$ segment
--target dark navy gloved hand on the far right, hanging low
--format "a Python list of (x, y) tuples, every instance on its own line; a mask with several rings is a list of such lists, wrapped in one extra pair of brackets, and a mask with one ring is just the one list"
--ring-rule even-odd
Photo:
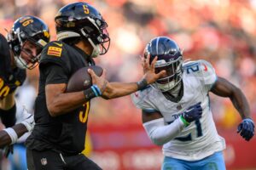
[(249, 141), (254, 135), (254, 122), (252, 119), (243, 119), (237, 127), (237, 133), (240, 133), (243, 139)]

